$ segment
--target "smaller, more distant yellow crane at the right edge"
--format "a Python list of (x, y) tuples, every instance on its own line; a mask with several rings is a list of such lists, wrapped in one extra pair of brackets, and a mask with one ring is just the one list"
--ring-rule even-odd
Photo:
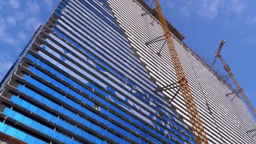
[(225, 43), (225, 40), (222, 40), (222, 42), (220, 43), (219, 45), (219, 50), (216, 54), (216, 57), (213, 61), (213, 64), (212, 64), (212, 68), (214, 67), (214, 64), (216, 63), (217, 61), (217, 58), (219, 57), (220, 61), (222, 62), (223, 64), (223, 67), (224, 69), (226, 70), (226, 72), (228, 72), (229, 76), (231, 77), (232, 81), (235, 83), (236, 85), (236, 88), (237, 88), (237, 91), (242, 95), (243, 99), (245, 100), (246, 104), (248, 105), (249, 109), (251, 110), (251, 112), (253, 113), (253, 116), (256, 118), (256, 111), (251, 103), (251, 101), (248, 99), (248, 97), (246, 96), (245, 92), (243, 91), (242, 87), (240, 86), (240, 84), (237, 82), (234, 74), (232, 73), (230, 67), (228, 64), (226, 64), (226, 62), (224, 61), (222, 55), (220, 55), (220, 51), (222, 50), (222, 46), (224, 45)]

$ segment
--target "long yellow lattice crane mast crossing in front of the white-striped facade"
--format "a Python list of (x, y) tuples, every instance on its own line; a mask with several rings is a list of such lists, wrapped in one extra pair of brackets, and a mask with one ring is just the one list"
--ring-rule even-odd
[(164, 13), (162, 12), (161, 5), (158, 0), (154, 0), (155, 9), (159, 16), (159, 20), (162, 26), (162, 31), (164, 32), (164, 37), (166, 39), (166, 44), (171, 54), (171, 59), (176, 71), (179, 86), (181, 87), (181, 92), (185, 101), (185, 106), (187, 107), (188, 115), (190, 118), (191, 125), (193, 127), (194, 135), (197, 143), (208, 143), (205, 129), (203, 128), (199, 113), (197, 111), (195, 100), (191, 93), (188, 80), (185, 76), (184, 70), (182, 68), (181, 61), (179, 60), (178, 52), (172, 40), (172, 34), (168, 28)]

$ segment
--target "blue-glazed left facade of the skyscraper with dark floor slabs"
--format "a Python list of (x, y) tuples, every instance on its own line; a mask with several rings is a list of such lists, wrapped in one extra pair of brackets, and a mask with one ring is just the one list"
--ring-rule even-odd
[(62, 0), (39, 27), (1, 82), (1, 141), (195, 143), (109, 3)]

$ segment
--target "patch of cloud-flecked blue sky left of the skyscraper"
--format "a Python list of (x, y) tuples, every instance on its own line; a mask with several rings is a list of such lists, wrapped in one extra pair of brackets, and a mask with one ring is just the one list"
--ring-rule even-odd
[(57, 3), (57, 0), (0, 0), (0, 80)]

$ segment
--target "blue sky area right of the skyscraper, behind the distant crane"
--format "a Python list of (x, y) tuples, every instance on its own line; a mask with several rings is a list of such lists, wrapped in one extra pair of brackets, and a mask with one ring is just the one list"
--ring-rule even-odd
[[(256, 1), (160, 0), (160, 3), (166, 19), (186, 37), (184, 43), (205, 61), (212, 63), (220, 41), (226, 40), (221, 54), (256, 107)], [(219, 59), (214, 69), (227, 74)]]

